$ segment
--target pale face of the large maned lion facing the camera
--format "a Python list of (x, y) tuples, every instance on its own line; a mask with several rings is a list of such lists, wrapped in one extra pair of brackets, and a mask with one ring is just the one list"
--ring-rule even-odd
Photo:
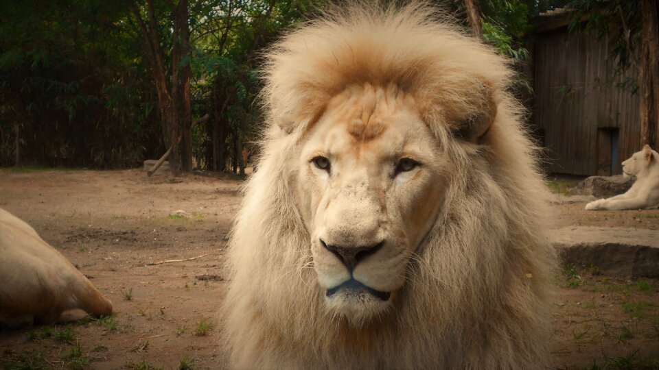
[(382, 314), (437, 218), (450, 169), (410, 97), (365, 86), (334, 97), (301, 139), (298, 206), (327, 308)]

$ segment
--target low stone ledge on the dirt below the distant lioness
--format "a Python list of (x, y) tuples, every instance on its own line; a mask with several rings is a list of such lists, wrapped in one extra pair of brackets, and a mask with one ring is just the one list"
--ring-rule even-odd
[(659, 277), (659, 231), (570, 226), (551, 232), (562, 261), (605, 275)]

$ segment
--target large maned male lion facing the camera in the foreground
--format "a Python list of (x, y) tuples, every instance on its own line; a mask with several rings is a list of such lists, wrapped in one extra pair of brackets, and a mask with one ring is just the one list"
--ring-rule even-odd
[(231, 367), (549, 366), (548, 194), (513, 73), (434, 18), (353, 5), (268, 52)]

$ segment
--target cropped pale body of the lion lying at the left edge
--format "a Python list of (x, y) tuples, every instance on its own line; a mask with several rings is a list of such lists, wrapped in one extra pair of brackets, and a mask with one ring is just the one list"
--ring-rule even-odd
[[(0, 209), (0, 327), (111, 314), (112, 304), (34, 229)], [(79, 317), (78, 317), (79, 318)]]

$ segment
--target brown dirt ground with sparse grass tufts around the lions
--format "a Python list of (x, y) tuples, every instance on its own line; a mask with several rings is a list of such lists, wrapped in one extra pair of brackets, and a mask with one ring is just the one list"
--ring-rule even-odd
[[(222, 264), (241, 184), (139, 170), (0, 169), (0, 207), (30, 223), (115, 307), (104, 319), (0, 332), (0, 367), (222, 368)], [(656, 210), (555, 208), (557, 227), (659, 230)], [(564, 267), (555, 293), (555, 368), (659, 369), (659, 280)]]

